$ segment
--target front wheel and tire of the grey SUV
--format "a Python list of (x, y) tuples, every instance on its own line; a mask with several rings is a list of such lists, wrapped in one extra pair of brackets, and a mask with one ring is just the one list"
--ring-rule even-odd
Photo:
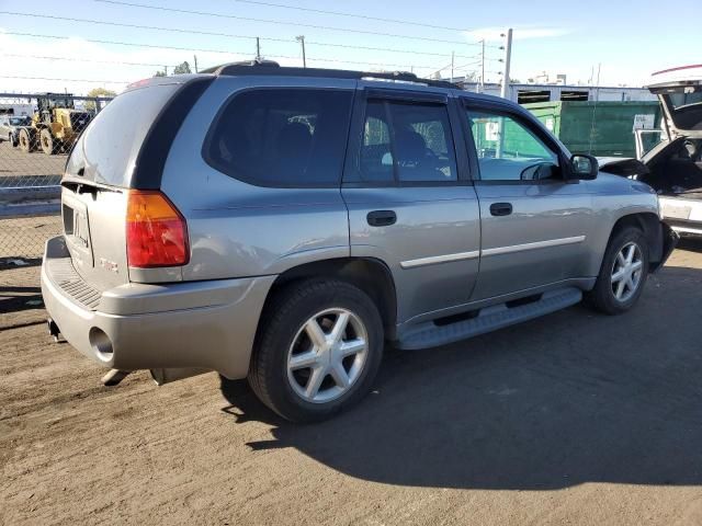
[[(626, 261), (630, 253), (631, 266)], [(625, 227), (616, 232), (604, 252), (595, 288), (586, 296), (590, 306), (605, 315), (621, 315), (634, 307), (648, 277), (648, 243), (638, 228)]]

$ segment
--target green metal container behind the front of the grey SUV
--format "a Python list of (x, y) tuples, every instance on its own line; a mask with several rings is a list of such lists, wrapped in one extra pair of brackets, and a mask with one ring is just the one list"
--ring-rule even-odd
[[(573, 153), (636, 157), (634, 129), (659, 129), (658, 102), (533, 102), (523, 104)], [(645, 135), (645, 139), (653, 139)]]

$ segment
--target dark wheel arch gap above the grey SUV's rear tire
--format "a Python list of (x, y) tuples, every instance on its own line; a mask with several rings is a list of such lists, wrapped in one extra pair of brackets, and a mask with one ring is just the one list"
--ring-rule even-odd
[(374, 258), (336, 258), (293, 266), (278, 276), (271, 286), (263, 309), (282, 288), (307, 279), (335, 278), (347, 282), (369, 295), (383, 319), (385, 336), (395, 338), (397, 295), (387, 265)]

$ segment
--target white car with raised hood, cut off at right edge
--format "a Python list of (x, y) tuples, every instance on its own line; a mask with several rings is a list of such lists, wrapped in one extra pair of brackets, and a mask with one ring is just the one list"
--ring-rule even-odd
[[(683, 66), (653, 75), (648, 89), (664, 110), (663, 138), (643, 152), (641, 162), (610, 160), (603, 170), (649, 184), (659, 195), (663, 217), (676, 231), (702, 235), (702, 66)], [(623, 169), (622, 169), (623, 168)]]

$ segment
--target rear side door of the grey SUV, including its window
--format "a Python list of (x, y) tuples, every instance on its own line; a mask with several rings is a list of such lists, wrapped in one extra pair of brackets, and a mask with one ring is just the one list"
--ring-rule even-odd
[(351, 255), (387, 264), (398, 323), (467, 302), (480, 225), (454, 101), (371, 85), (359, 95), (342, 185)]

